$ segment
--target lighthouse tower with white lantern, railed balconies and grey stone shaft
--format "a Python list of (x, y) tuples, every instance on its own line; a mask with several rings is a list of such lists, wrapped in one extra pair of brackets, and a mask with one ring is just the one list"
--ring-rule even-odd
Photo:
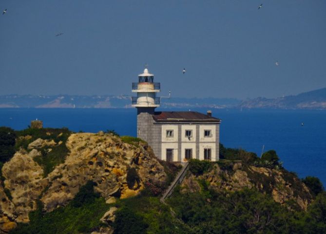
[(137, 137), (147, 141), (152, 140), (152, 125), (155, 108), (160, 106), (160, 98), (156, 93), (160, 91), (160, 83), (154, 83), (154, 75), (145, 68), (138, 75), (138, 82), (133, 83), (133, 92), (137, 93), (132, 98), (132, 106), (137, 108)]

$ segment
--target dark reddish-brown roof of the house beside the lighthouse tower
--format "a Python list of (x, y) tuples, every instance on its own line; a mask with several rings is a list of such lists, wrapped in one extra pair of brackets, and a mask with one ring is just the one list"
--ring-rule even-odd
[(220, 119), (196, 111), (161, 111), (153, 114), (156, 122), (221, 122)]

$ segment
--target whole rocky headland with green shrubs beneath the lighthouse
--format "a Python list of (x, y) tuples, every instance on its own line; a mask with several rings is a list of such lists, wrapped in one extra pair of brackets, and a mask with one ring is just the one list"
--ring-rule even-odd
[[(220, 145), (224, 160), (192, 160), (185, 180), (163, 204), (159, 198), (179, 167), (157, 160), (139, 139), (68, 129), (13, 133), (22, 150), (7, 159), (0, 174), (5, 199), (0, 208), (3, 214), (11, 211), (4, 209), (8, 204), (31, 212), (24, 219), (29, 223), (16, 219), (10, 234), (326, 233), (320, 180), (300, 180), (282, 167), (275, 151), (259, 158)], [(31, 173), (17, 176), (19, 162)], [(33, 196), (18, 193), (27, 187), (33, 187)], [(15, 214), (0, 217), (0, 228), (5, 217), (14, 223)]]

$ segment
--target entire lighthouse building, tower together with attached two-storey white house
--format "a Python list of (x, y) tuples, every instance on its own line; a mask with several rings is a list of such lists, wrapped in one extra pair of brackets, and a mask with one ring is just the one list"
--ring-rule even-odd
[(153, 82), (154, 75), (147, 69), (133, 83), (132, 105), (137, 108), (137, 137), (148, 142), (157, 158), (169, 162), (188, 159), (217, 161), (219, 159), (220, 119), (211, 111), (160, 111), (160, 83)]

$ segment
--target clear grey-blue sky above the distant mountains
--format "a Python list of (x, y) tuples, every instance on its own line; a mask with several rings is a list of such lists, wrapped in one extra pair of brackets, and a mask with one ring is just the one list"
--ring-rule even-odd
[(325, 0), (1, 0), (6, 8), (0, 95), (130, 95), (145, 63), (161, 95), (326, 87)]

